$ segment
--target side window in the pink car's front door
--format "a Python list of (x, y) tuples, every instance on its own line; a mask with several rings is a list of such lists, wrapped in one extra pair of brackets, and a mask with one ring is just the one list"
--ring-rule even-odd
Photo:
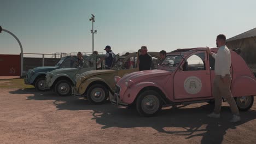
[(185, 70), (187, 71), (205, 70), (205, 52), (189, 56), (189, 58), (187, 58), (187, 63), (185, 64), (187, 64), (185, 67)]

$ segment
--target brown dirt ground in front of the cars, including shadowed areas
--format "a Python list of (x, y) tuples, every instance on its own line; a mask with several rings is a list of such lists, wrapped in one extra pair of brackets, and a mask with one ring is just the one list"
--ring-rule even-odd
[(232, 124), (226, 103), (219, 119), (206, 116), (213, 109), (207, 103), (167, 107), (146, 118), (34, 88), (0, 91), (0, 143), (256, 143), (255, 102)]

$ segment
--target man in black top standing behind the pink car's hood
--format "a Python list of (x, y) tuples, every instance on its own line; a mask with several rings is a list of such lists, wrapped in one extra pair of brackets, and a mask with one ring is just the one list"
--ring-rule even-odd
[(141, 47), (141, 55), (138, 58), (139, 71), (150, 70), (152, 64), (152, 57), (148, 54), (147, 46)]

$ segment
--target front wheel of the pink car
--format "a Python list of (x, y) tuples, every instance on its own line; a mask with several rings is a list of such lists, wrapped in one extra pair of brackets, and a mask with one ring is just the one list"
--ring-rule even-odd
[(144, 91), (136, 100), (137, 112), (146, 117), (155, 116), (162, 109), (162, 100), (155, 91)]

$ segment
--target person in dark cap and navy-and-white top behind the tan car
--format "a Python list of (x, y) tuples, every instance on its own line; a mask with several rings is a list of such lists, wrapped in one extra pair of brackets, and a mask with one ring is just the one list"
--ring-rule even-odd
[(105, 68), (110, 69), (115, 57), (115, 53), (111, 50), (109, 45), (107, 45), (104, 50), (106, 51), (106, 55), (105, 57), (102, 57), (101, 60), (97, 62), (97, 64), (101, 63), (105, 59)]

